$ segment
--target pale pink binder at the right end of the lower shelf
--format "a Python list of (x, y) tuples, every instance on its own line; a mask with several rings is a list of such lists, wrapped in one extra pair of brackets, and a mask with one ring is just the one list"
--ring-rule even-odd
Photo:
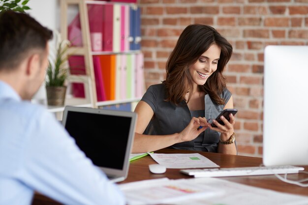
[(143, 63), (143, 54), (136, 54), (136, 73), (135, 73), (135, 95), (136, 98), (141, 98), (144, 94), (144, 63)]

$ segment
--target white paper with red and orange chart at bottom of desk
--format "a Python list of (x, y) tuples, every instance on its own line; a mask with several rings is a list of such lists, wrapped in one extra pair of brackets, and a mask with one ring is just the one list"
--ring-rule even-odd
[(224, 194), (219, 189), (185, 179), (152, 179), (120, 184), (119, 186), (124, 192), (128, 205), (166, 204)]

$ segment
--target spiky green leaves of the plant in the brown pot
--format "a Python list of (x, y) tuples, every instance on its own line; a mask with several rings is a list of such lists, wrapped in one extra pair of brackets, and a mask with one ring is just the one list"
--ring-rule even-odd
[(64, 56), (69, 45), (69, 42), (61, 41), (57, 46), (54, 61), (52, 62), (52, 60), (49, 59), (46, 86), (64, 86), (69, 70), (67, 67), (67, 58)]

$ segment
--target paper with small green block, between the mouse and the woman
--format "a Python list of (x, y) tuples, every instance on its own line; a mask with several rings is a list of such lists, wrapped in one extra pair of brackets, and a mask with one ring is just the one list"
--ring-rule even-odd
[(155, 154), (150, 153), (152, 158), (166, 168), (187, 169), (187, 168), (208, 168), (219, 167), (210, 159), (201, 154)]

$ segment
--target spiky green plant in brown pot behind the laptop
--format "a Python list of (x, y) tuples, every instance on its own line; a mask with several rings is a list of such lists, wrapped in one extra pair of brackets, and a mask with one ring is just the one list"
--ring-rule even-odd
[(55, 56), (49, 58), (46, 79), (47, 104), (63, 106), (65, 101), (65, 79), (68, 74), (65, 52), (70, 46), (68, 41), (57, 43)]

